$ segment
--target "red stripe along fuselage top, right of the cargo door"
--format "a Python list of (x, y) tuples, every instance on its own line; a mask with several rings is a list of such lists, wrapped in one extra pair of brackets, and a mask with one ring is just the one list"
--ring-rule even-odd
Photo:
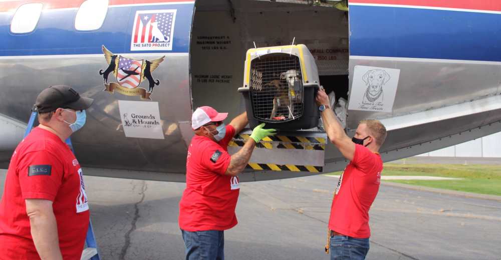
[(500, 0), (350, 0), (350, 3), (398, 4), (437, 8), (501, 11)]

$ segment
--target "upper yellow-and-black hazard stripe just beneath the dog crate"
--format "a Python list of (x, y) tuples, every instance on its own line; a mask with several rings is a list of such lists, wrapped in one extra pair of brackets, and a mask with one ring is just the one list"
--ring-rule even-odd
[[(237, 134), (228, 145), (243, 146), (248, 138), (249, 134)], [(279, 149), (325, 150), (325, 140), (324, 137), (272, 135), (263, 138), (256, 146), (259, 148), (272, 149), (273, 144), (271, 142), (280, 142), (277, 145)]]

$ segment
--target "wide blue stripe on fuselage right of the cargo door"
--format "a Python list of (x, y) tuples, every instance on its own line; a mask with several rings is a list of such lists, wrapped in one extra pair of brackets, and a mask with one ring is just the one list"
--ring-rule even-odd
[(501, 61), (501, 14), (350, 5), (350, 55)]

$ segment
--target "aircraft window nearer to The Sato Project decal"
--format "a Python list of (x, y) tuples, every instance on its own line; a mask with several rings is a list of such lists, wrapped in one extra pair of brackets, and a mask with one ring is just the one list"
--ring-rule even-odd
[(108, 0), (86, 0), (83, 2), (75, 18), (75, 29), (97, 30), (101, 28), (108, 11), (108, 4)]

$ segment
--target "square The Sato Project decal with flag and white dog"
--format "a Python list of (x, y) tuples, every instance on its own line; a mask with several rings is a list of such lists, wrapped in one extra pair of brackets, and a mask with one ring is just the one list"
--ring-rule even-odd
[(130, 50), (172, 50), (176, 10), (136, 11)]

